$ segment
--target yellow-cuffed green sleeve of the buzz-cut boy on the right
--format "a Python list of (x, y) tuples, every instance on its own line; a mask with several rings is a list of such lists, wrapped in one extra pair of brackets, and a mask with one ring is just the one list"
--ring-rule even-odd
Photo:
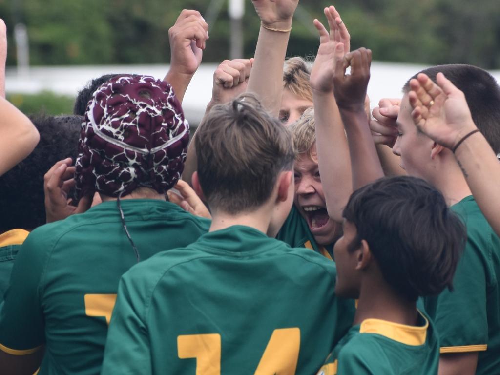
[(453, 291), (445, 289), (425, 298), (425, 309), (433, 318), (439, 335), (440, 352), (486, 350), (486, 272), (478, 246), (470, 238), (453, 277)]

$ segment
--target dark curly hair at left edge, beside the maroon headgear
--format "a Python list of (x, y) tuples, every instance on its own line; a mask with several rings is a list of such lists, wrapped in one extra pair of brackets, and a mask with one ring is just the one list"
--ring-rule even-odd
[(76, 159), (82, 116), (31, 117), (40, 141), (33, 152), (0, 177), (0, 233), (45, 223), (43, 175), (56, 161)]

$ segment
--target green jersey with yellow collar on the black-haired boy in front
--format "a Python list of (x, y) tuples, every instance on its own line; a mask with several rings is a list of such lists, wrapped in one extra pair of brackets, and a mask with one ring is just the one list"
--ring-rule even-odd
[(433, 375), (439, 342), (423, 314), (416, 326), (380, 319), (354, 325), (338, 342), (317, 375)]

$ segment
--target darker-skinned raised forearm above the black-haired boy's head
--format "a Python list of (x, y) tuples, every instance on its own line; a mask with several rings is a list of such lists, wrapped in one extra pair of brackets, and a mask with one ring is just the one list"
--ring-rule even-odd
[(340, 116), (346, 124), (352, 169), (352, 189), (355, 190), (383, 177), (384, 174), (364, 109), (362, 107), (359, 110), (340, 109)]

